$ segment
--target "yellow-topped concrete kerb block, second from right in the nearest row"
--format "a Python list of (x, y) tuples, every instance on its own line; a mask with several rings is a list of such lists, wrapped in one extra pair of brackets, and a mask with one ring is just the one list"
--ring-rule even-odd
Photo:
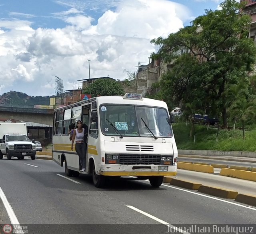
[(234, 190), (212, 187), (212, 186), (205, 186), (205, 185), (201, 185), (198, 189), (198, 192), (217, 196), (220, 198), (232, 198), (232, 199), (236, 198), (236, 196), (238, 195), (238, 192)]

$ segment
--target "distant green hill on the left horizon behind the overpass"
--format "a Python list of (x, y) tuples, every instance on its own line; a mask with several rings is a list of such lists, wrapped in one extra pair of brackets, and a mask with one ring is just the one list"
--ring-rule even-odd
[(28, 96), (27, 94), (10, 91), (0, 95), (0, 104), (6, 106), (34, 106), (50, 105), (50, 97), (53, 96)]

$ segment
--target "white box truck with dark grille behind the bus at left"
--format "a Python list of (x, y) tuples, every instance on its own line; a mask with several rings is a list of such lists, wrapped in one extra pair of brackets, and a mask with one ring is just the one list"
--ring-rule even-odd
[(27, 136), (25, 123), (0, 123), (0, 159), (6, 155), (8, 160), (12, 157), (23, 159), (30, 156), (36, 158), (36, 145)]

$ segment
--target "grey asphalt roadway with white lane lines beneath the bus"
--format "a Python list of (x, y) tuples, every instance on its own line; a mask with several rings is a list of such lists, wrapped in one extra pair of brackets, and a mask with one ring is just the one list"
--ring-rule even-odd
[[(99, 189), (89, 176), (70, 179), (50, 160), (0, 161), (0, 188), (20, 224), (133, 224), (129, 233), (154, 224), (147, 233), (164, 233), (167, 224), (256, 223), (256, 208), (167, 184), (154, 189), (148, 181), (121, 179)], [(10, 223), (1, 198), (0, 221)]]

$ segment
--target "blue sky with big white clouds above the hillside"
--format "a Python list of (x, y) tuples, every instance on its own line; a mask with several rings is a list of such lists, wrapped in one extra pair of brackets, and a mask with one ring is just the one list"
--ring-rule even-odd
[(0, 0), (0, 95), (54, 95), (78, 80), (123, 80), (157, 52), (150, 40), (187, 26), (221, 0)]

